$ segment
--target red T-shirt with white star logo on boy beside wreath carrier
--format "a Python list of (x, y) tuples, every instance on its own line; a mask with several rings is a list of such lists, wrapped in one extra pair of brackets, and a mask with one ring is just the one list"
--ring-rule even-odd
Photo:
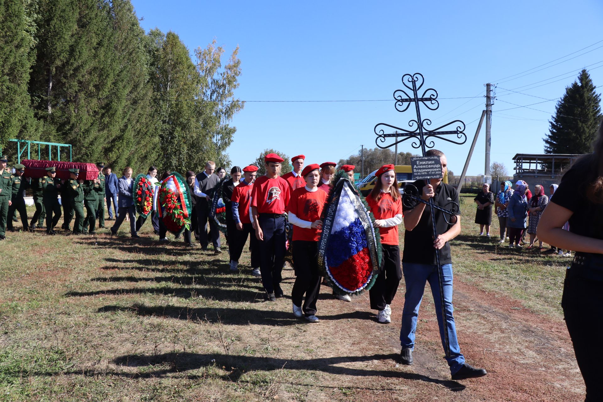
[(253, 183), (251, 206), (257, 213), (284, 213), (291, 198), (291, 186), (282, 178), (260, 176)]

